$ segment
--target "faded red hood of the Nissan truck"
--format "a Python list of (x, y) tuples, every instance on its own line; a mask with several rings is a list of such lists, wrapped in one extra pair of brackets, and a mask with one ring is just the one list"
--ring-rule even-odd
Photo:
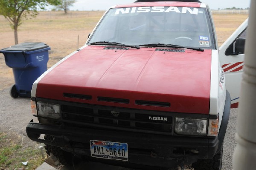
[[(135, 109), (209, 114), (211, 50), (161, 52), (155, 48), (87, 46), (39, 81), (36, 97)], [(63, 93), (91, 95), (91, 100)], [(98, 101), (128, 99), (128, 104)], [(137, 101), (169, 103), (145, 106)], [(154, 105), (154, 104), (153, 104)]]

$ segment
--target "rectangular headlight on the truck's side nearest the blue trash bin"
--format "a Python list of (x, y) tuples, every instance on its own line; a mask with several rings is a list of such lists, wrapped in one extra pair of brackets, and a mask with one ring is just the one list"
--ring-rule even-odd
[(37, 111), (39, 116), (47, 118), (60, 118), (60, 105), (37, 102)]

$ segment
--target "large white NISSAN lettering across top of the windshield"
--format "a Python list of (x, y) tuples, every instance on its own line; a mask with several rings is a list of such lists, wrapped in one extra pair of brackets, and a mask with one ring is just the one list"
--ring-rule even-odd
[[(129, 13), (143, 13), (143, 12), (176, 12), (176, 13), (182, 13), (182, 14), (195, 14), (197, 15), (198, 8), (188, 8), (188, 7), (182, 7), (178, 8), (176, 6), (170, 6), (169, 8), (165, 8), (164, 6), (145, 6), (145, 7), (133, 7), (133, 8), (119, 8), (116, 9), (115, 15), (118, 14), (129, 14)], [(201, 12), (200, 12), (201, 13)]]

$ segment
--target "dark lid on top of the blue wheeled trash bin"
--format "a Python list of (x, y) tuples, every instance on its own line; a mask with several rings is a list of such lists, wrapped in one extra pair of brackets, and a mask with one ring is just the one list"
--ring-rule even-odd
[(2, 49), (5, 51), (25, 51), (25, 52), (31, 52), (31, 51), (35, 51), (38, 49), (44, 49), (47, 48), (49, 46), (47, 46), (47, 44), (45, 43), (19, 43), (16, 44), (14, 46), (10, 46), (8, 48)]

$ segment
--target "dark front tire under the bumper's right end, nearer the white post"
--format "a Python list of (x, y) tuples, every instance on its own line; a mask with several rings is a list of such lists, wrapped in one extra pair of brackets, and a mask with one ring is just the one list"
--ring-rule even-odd
[(221, 170), (222, 167), (222, 156), (223, 156), (223, 144), (221, 150), (209, 160), (199, 159), (197, 162), (192, 164), (195, 170)]

